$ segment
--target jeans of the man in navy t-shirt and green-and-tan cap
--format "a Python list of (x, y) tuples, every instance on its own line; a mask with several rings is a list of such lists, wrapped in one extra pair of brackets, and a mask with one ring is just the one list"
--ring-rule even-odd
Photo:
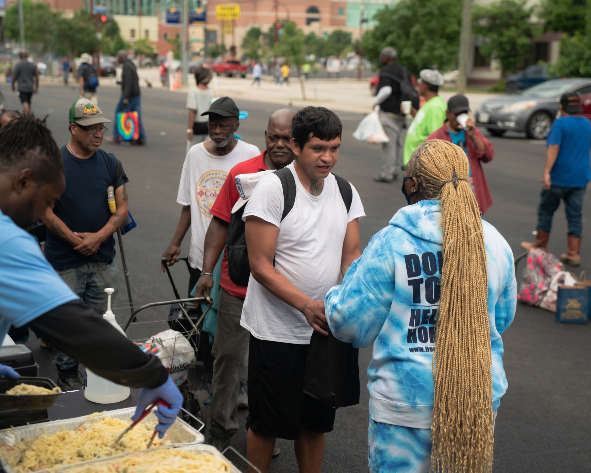
[[(58, 270), (57, 273), (80, 299), (95, 309), (101, 316), (107, 310), (105, 289), (107, 287), (115, 289), (111, 300), (117, 295), (119, 271), (115, 261), (110, 264), (100, 262), (85, 263), (77, 268)], [(75, 359), (56, 349), (54, 349), (54, 352), (56, 353), (54, 364), (57, 365), (58, 370), (70, 370), (78, 366)]]

